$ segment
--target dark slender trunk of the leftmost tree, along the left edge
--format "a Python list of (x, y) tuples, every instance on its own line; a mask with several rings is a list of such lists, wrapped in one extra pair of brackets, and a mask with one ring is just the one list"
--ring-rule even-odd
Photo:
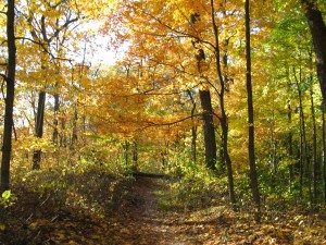
[(12, 150), (12, 128), (13, 128), (13, 107), (15, 95), (15, 73), (16, 73), (16, 46), (15, 46), (15, 1), (8, 0), (7, 10), (7, 45), (8, 45), (8, 66), (7, 66), (7, 95), (4, 109), (4, 127), (2, 142), (1, 160), (1, 193), (10, 188), (10, 159)]

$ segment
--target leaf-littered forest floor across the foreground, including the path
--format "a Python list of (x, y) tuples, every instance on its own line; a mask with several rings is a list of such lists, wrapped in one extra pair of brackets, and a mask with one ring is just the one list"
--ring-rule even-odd
[[(46, 206), (46, 199), (38, 205), (45, 209), (42, 215), (21, 221), (11, 218), (5, 225), (0, 220), (0, 244), (326, 244), (324, 215), (271, 212), (255, 223), (250, 213), (235, 212), (225, 205), (197, 210), (185, 206), (181, 210), (168, 203), (172, 189), (167, 183), (165, 179), (136, 177), (126, 195), (121, 193), (121, 207), (102, 217), (68, 209), (47, 216), (52, 208)], [(20, 208), (26, 212), (26, 207)], [(11, 217), (21, 211), (16, 207)]]

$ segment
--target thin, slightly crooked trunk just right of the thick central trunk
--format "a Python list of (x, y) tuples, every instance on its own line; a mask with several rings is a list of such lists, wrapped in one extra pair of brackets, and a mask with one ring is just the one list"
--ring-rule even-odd
[(222, 68), (221, 68), (221, 52), (220, 52), (220, 39), (218, 39), (218, 27), (215, 21), (215, 8), (214, 8), (214, 0), (211, 0), (211, 19), (213, 24), (213, 32), (214, 32), (214, 39), (215, 39), (215, 65), (217, 71), (217, 76), (220, 81), (221, 91), (218, 93), (220, 98), (220, 107), (221, 107), (221, 127), (222, 127), (222, 144), (223, 144), (223, 156), (225, 158), (225, 164), (227, 168), (227, 176), (228, 176), (228, 193), (229, 199), (233, 206), (236, 205), (236, 195), (235, 195), (235, 186), (234, 186), (234, 172), (233, 172), (233, 164), (228, 154), (228, 122), (227, 115), (225, 112), (225, 105), (224, 105), (224, 96), (225, 96), (225, 83), (224, 77), (222, 75)]

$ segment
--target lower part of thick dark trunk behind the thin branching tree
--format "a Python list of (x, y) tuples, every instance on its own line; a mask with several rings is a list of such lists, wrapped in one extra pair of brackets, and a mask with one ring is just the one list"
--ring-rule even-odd
[(211, 101), (210, 90), (199, 91), (200, 103), (203, 109), (202, 120), (203, 120), (203, 132), (204, 132), (204, 145), (205, 145), (205, 163), (211, 170), (215, 170), (216, 163), (216, 139), (215, 139), (215, 128), (213, 122), (213, 108)]

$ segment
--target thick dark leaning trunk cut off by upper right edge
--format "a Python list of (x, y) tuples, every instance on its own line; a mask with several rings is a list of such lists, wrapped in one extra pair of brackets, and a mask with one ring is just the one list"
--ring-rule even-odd
[(326, 105), (326, 25), (315, 0), (300, 0), (313, 38), (316, 54), (317, 76), (323, 95), (324, 110)]

